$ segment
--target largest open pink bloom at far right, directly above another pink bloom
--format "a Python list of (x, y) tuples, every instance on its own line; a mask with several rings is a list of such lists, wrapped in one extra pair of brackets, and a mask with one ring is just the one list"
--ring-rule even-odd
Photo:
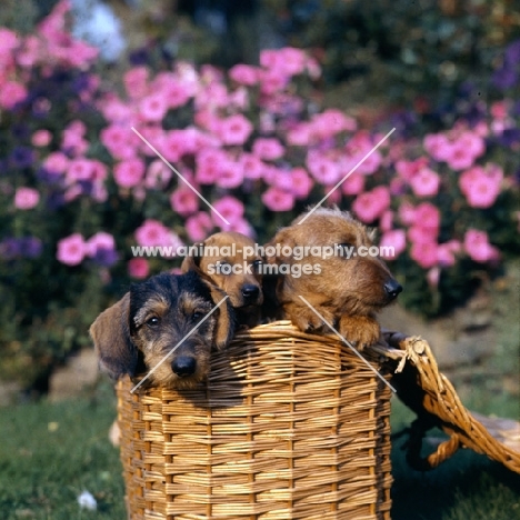
[(460, 176), (459, 186), (472, 208), (490, 208), (500, 193), (502, 179), (500, 167), (489, 164), (484, 170), (477, 166)]

